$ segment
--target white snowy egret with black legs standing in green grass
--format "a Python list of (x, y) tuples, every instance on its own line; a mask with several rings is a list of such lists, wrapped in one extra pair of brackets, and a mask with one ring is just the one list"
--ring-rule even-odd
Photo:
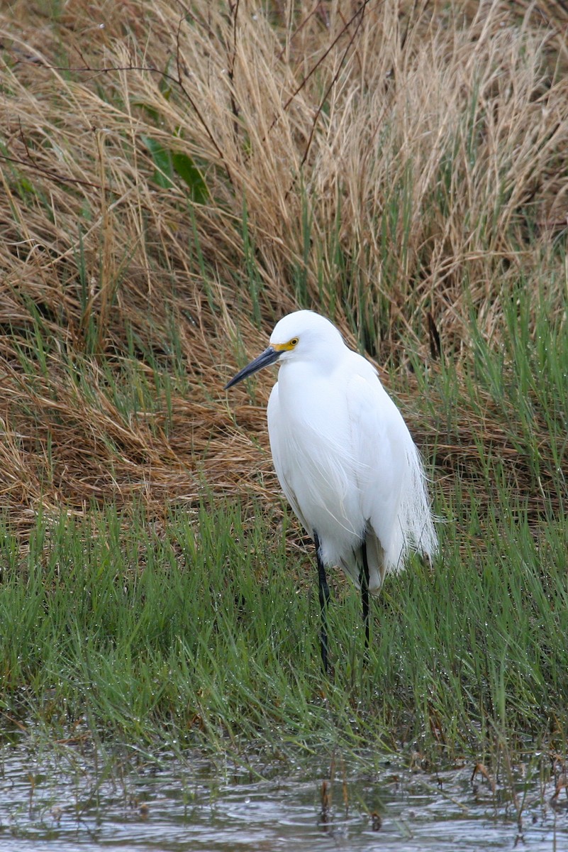
[(436, 534), (417, 447), (372, 364), (325, 317), (295, 311), (225, 389), (276, 361), (270, 450), (282, 491), (314, 539), (327, 671), (326, 566), (343, 567), (361, 589), (368, 647), (369, 593), (412, 550), (433, 556)]

